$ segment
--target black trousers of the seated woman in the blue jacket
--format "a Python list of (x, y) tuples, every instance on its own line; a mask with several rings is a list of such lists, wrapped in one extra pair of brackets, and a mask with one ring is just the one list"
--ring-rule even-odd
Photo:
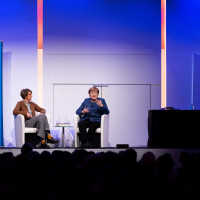
[[(90, 121), (89, 119), (78, 122), (79, 127), (79, 140), (81, 143), (92, 142), (95, 131), (97, 128), (100, 128), (100, 122)], [(87, 131), (87, 128), (88, 131)]]

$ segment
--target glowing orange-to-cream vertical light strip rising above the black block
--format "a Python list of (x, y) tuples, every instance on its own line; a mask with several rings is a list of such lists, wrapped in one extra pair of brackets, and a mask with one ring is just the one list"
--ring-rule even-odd
[(167, 106), (166, 0), (161, 0), (161, 108)]

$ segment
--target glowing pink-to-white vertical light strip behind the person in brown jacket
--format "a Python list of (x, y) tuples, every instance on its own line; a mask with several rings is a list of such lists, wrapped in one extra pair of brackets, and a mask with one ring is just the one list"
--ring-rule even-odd
[(43, 0), (37, 0), (38, 105), (43, 107)]

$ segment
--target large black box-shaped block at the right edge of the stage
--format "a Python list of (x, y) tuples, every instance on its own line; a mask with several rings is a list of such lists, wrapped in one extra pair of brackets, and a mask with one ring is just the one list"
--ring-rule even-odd
[(200, 148), (200, 110), (149, 110), (149, 148)]

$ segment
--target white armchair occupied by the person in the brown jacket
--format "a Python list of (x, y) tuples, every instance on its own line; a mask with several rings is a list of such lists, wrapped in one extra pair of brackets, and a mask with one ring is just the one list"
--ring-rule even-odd
[[(47, 120), (50, 123), (50, 115), (47, 115)], [(37, 128), (27, 128), (25, 127), (24, 116), (21, 114), (14, 115), (14, 124), (15, 124), (15, 139), (16, 147), (22, 147), (25, 143), (25, 134), (26, 133), (37, 133)]]

